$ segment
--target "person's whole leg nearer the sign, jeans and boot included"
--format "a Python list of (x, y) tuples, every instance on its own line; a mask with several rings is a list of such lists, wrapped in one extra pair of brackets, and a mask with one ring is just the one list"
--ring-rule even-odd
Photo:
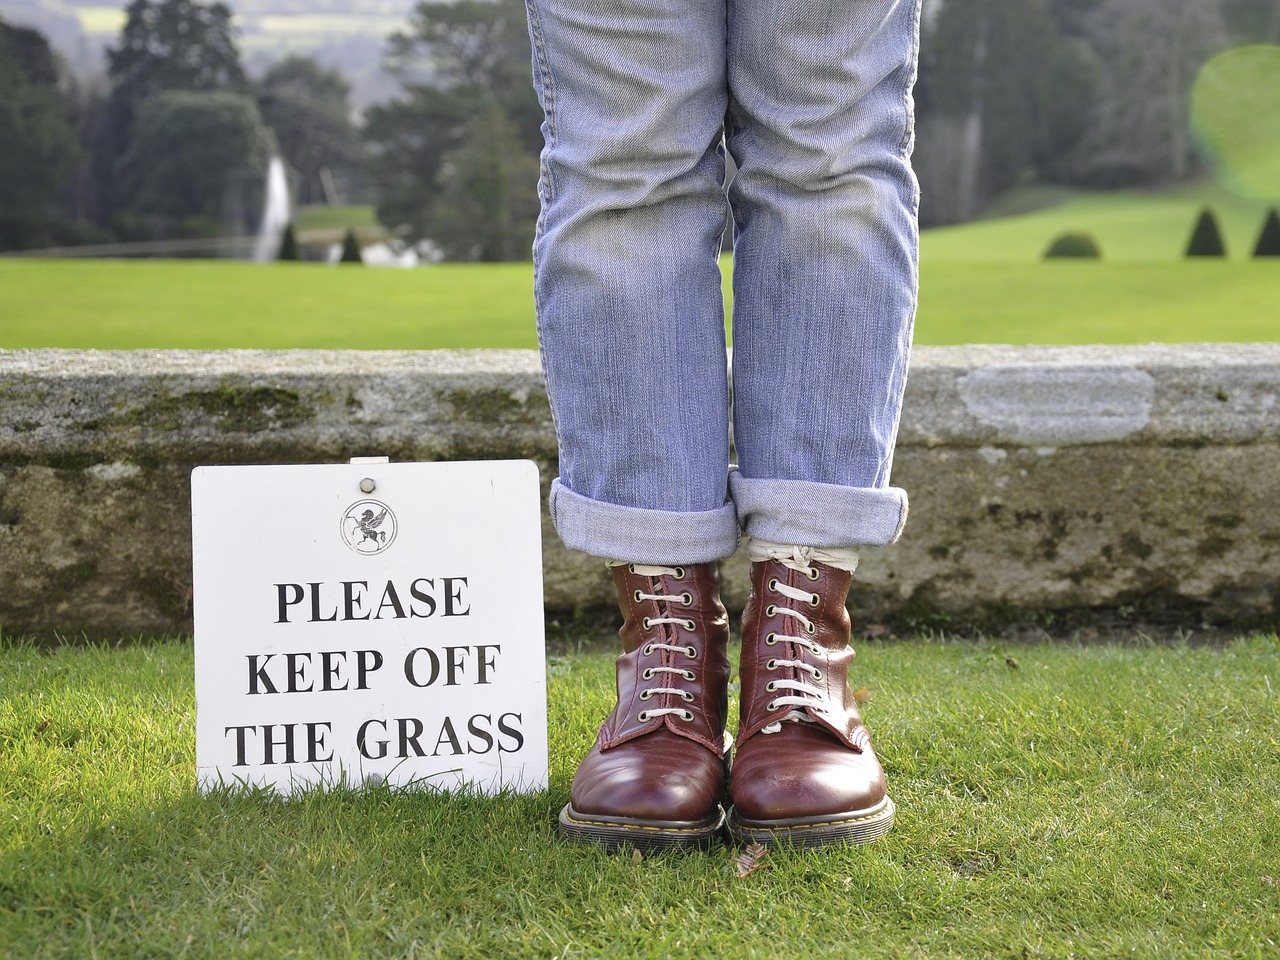
[(701, 846), (724, 820), (737, 545), (719, 278), (723, 0), (529, 0), (547, 122), (534, 244), (564, 544), (613, 566), (618, 703), (561, 831)]

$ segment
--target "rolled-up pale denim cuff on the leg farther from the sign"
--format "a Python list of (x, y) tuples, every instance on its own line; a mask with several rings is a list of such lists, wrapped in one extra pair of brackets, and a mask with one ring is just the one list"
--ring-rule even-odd
[(883, 547), (906, 524), (906, 490), (728, 476), (748, 536), (800, 547)]

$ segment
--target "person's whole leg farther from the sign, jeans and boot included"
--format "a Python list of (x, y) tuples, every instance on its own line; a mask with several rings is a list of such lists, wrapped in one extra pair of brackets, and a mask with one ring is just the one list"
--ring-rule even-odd
[(915, 314), (918, 27), (919, 0), (730, 0), (741, 841), (864, 842), (893, 823), (845, 600), (852, 548), (906, 518), (888, 475)]

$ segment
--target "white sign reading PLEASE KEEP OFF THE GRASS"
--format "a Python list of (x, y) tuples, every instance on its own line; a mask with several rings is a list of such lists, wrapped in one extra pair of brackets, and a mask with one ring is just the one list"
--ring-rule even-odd
[(538, 467), (196, 467), (196, 772), (547, 786)]

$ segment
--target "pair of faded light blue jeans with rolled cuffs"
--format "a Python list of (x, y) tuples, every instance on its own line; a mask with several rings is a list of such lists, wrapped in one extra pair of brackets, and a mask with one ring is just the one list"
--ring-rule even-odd
[(561, 539), (640, 563), (719, 559), (740, 530), (896, 539), (919, 0), (526, 3), (547, 115), (534, 285)]

